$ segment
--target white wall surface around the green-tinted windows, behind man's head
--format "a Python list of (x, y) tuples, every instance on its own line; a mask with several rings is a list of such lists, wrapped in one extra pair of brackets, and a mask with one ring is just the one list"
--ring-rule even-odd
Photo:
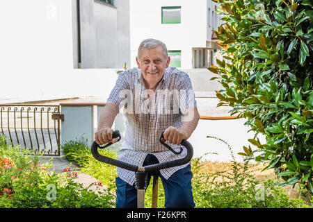
[[(162, 6), (181, 6), (181, 24), (161, 24)], [(192, 69), (192, 48), (207, 42), (207, 0), (131, 0), (131, 67), (137, 67), (138, 46), (146, 38), (163, 41), (168, 50), (182, 51), (182, 69)]]

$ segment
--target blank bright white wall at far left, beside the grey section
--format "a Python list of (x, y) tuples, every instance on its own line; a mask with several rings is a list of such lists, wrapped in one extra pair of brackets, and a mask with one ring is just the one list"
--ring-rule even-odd
[(114, 69), (73, 68), (72, 1), (0, 1), (0, 27), (0, 99), (109, 96)]

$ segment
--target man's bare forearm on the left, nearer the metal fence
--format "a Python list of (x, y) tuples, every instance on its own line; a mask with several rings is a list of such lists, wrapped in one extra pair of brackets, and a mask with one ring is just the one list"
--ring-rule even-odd
[(114, 103), (106, 103), (99, 117), (98, 130), (106, 127), (112, 128), (114, 119), (118, 114), (118, 107)]

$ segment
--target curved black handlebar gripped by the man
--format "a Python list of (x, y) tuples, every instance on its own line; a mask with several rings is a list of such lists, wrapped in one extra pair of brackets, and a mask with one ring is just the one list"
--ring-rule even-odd
[[(163, 138), (163, 133), (164, 131), (162, 132), (161, 136), (159, 137), (159, 142), (161, 144), (163, 144), (163, 146), (166, 146), (166, 148), (168, 148), (170, 151), (172, 151), (172, 153), (175, 153), (175, 154), (180, 154), (182, 153), (182, 148), (180, 148), (180, 151), (177, 152), (177, 151), (174, 151), (170, 146), (168, 146), (167, 144), (165, 144), (163, 141), (162, 141), (162, 138)], [(120, 137), (120, 131), (118, 130), (114, 130), (113, 131), (113, 136), (112, 138), (116, 138), (116, 137)], [(118, 139), (119, 141), (120, 139)], [(135, 166), (133, 164), (128, 164), (127, 162), (122, 162), (120, 160), (114, 160), (110, 157), (106, 157), (104, 155), (100, 155), (99, 152), (98, 152), (98, 148), (106, 148), (108, 146), (110, 146), (112, 143), (109, 143), (109, 144), (106, 144), (105, 146), (99, 146), (97, 144), (97, 142), (93, 142), (93, 144), (91, 145), (91, 153), (93, 154), (93, 157), (95, 157), (96, 160), (99, 160), (100, 162), (105, 162), (107, 164), (111, 164), (115, 167), (120, 167), (120, 168), (123, 168), (123, 169), (127, 169), (129, 171), (159, 171), (160, 169), (166, 169), (166, 168), (170, 168), (170, 167), (177, 167), (179, 165), (183, 165), (183, 164), (186, 164), (188, 162), (191, 161), (192, 157), (193, 157), (193, 146), (191, 146), (191, 144), (186, 141), (185, 139), (182, 140), (182, 143), (181, 145), (184, 146), (187, 150), (187, 155), (182, 158), (182, 159), (179, 159), (179, 160), (173, 160), (173, 161), (170, 161), (170, 162), (163, 162), (163, 163), (158, 163), (158, 164), (152, 164), (152, 165), (147, 165), (145, 167), (138, 167), (138, 166)]]

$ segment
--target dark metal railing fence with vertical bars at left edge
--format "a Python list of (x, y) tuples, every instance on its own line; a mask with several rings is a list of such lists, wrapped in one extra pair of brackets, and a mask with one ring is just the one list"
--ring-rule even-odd
[(0, 104), (0, 135), (13, 146), (60, 155), (59, 105)]

